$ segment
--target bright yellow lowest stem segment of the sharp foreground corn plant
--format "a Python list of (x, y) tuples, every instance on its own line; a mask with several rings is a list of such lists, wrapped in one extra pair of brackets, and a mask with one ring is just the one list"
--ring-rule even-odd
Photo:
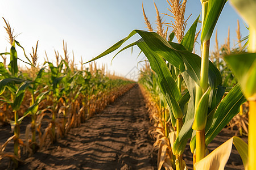
[(196, 130), (196, 162), (205, 156), (205, 134), (204, 130)]

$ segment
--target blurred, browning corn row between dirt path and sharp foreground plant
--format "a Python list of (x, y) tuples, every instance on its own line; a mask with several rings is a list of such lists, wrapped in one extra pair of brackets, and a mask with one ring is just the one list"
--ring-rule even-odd
[(174, 167), (176, 158), (172, 154), (168, 135), (171, 131), (175, 130), (175, 126), (171, 124), (167, 101), (161, 94), (155, 74), (151, 71), (147, 63), (146, 67), (141, 70), (139, 85), (143, 97), (146, 100), (150, 120), (154, 122), (154, 128), (150, 130), (150, 134), (155, 138), (154, 146), (158, 148), (158, 167)]

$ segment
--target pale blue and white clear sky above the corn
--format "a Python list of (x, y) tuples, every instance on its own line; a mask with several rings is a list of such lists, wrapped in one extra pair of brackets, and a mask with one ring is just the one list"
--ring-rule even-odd
[[(161, 13), (170, 14), (166, 0), (155, 0), (155, 3)], [(153, 1), (144, 0), (143, 5), (148, 19), (156, 28)], [(200, 12), (200, 0), (187, 1), (185, 16), (187, 18), (192, 14), (188, 20), (187, 29)], [(11, 28), (14, 28), (14, 35), (21, 33), (16, 40), (26, 49), (27, 54), (32, 53), (31, 46), (35, 46), (36, 41), (39, 40), (38, 56), (41, 65), (44, 62), (45, 50), (50, 61), (55, 59), (54, 49), (58, 50), (61, 55), (63, 54), (63, 40), (67, 42), (69, 56), (72, 57), (73, 50), (75, 62), (79, 65), (81, 56), (84, 62), (89, 61), (129, 35), (133, 29), (146, 30), (141, 0), (1, 0), (0, 16), (0, 53), (5, 52), (6, 47), (8, 50), (10, 48), (3, 28), (5, 26), (3, 17), (10, 22)], [(242, 19), (229, 5), (229, 2), (226, 3), (216, 25), (220, 44), (225, 42), (230, 26), (230, 41), (233, 46), (236, 41), (237, 19), (240, 20), (242, 37), (245, 37), (248, 31)], [(164, 16), (163, 20), (170, 22), (171, 18)], [(200, 24), (199, 27), (201, 27)], [(137, 35), (129, 42), (138, 39)], [(210, 47), (211, 49), (214, 47), (214, 36)], [(196, 52), (200, 54), (200, 45), (196, 45)], [(123, 76), (129, 74), (129, 71), (137, 66), (138, 61), (143, 59), (143, 55), (137, 58), (138, 48), (133, 49), (133, 54), (128, 49), (118, 54), (110, 66), (114, 54), (98, 59), (97, 63), (98, 65), (105, 63), (109, 70), (114, 70), (115, 73)], [(25, 59), (20, 50), (18, 50), (18, 56)], [(1, 58), (0, 61), (2, 61)]]

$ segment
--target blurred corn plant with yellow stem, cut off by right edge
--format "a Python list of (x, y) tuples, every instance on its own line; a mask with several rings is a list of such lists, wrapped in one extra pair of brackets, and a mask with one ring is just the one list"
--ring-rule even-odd
[[(254, 10), (256, 1), (230, 1), (242, 18), (249, 24), (249, 46), (248, 53), (226, 56), (225, 60), (232, 67), (238, 82), (241, 84), (243, 94), (249, 101), (249, 164), (248, 169), (255, 169), (255, 150), (256, 150), (256, 133), (255, 133), (255, 108), (256, 108), (256, 22)], [(240, 69), (237, 69), (240, 68)]]

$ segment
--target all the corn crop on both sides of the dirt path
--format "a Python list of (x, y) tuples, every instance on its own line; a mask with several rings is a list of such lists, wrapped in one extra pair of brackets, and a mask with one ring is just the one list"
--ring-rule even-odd
[[(0, 54), (3, 58), (3, 62), (0, 62), (0, 121), (11, 125), (13, 136), (7, 138), (0, 147), (0, 161), (8, 157), (13, 167), (18, 168), (23, 162), (22, 154), (31, 156), (38, 150), (54, 145), (67, 137), (72, 128), (82, 126), (119, 96), (137, 88), (141, 92), (134, 93), (143, 95), (147, 108), (145, 114), (154, 124), (149, 134), (154, 138), (152, 145), (158, 152), (156, 169), (191, 168), (185, 157), (188, 150), (192, 155), (193, 169), (225, 169), (233, 145), (240, 155), (243, 168), (256, 169), (256, 1), (230, 0), (249, 25), (250, 33), (242, 38), (238, 22), (238, 47), (230, 47), (228, 30), (228, 38), (219, 48), (216, 30), (214, 50), (210, 50), (210, 39), (227, 1), (201, 0), (201, 14), (192, 25), (187, 25), (191, 15), (188, 18), (184, 15), (186, 0), (167, 2), (170, 14), (163, 15), (168, 16), (170, 22), (163, 22), (154, 2), (157, 24), (154, 31), (142, 3), (148, 30), (131, 31), (127, 37), (86, 62), (89, 68), (83, 69), (85, 63), (81, 61), (80, 70), (75, 67), (74, 55), (73, 60), (69, 61), (67, 43), (64, 41), (64, 57), (55, 51), (56, 63), (45, 61), (39, 68), (36, 64), (38, 42), (28, 57), (5, 20), (11, 48), (10, 52)], [(139, 40), (119, 49), (135, 34), (139, 35)], [(174, 42), (174, 38), (177, 42)], [(201, 56), (195, 53), (196, 42), (201, 46)], [(144, 67), (140, 70), (138, 86), (131, 80), (106, 74), (104, 66), (97, 69), (97, 59), (117, 49), (118, 54), (134, 46), (138, 46), (140, 54), (146, 57)], [(18, 67), (16, 48), (24, 50), (27, 61), (22, 62), (30, 66), (27, 70)], [(10, 57), (9, 65), (6, 57)], [(124, 100), (123, 104), (131, 103), (128, 99)], [(121, 111), (122, 107), (119, 108)], [(114, 118), (117, 117), (115, 115)], [(26, 139), (22, 139), (20, 125), (28, 118), (30, 123), (26, 125)], [(123, 128), (120, 127), (119, 130)], [(244, 138), (235, 135), (211, 150), (211, 143), (224, 129), (236, 130), (236, 135), (248, 137), (247, 143)], [(99, 135), (104, 137), (104, 133)], [(123, 132), (119, 132), (118, 139), (123, 135)], [(11, 141), (13, 152), (6, 152), (5, 148)], [(134, 142), (130, 143), (133, 145)], [(123, 155), (130, 152), (131, 149), (123, 151), (113, 158), (121, 160)], [(130, 162), (133, 161), (130, 158)], [(122, 169), (129, 168), (123, 166)]]

